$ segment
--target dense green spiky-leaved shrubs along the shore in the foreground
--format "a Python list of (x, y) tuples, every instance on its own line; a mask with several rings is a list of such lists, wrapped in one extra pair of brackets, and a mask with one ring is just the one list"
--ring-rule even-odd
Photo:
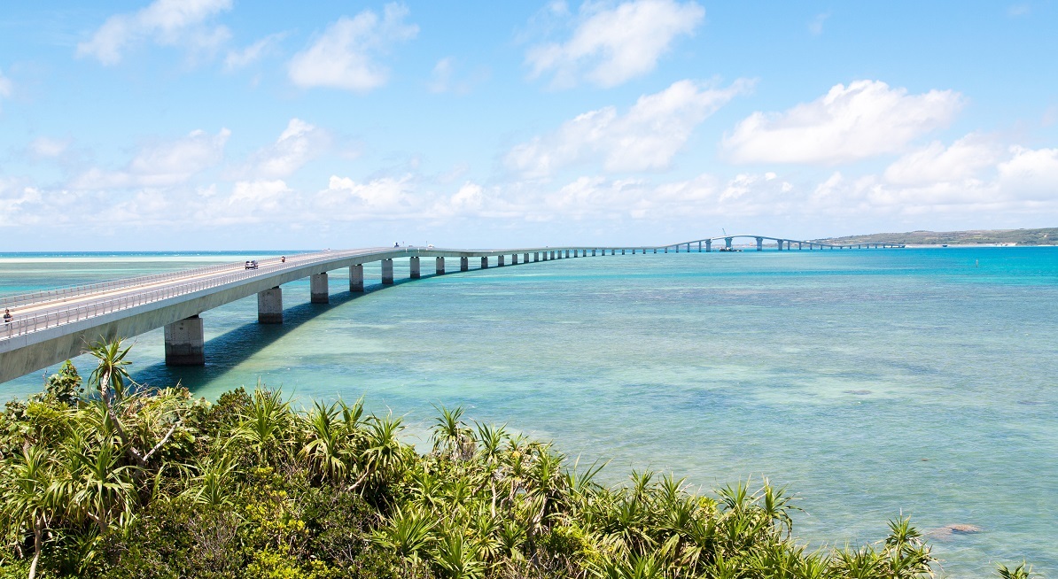
[[(763, 481), (714, 497), (633, 472), (596, 482), (551, 445), (438, 408), (433, 447), (361, 401), (291, 407), (258, 385), (215, 404), (147, 389), (120, 342), (0, 416), (0, 577), (915, 578), (908, 519), (877, 544), (808, 550)], [(1024, 566), (1003, 577), (1027, 577)]]

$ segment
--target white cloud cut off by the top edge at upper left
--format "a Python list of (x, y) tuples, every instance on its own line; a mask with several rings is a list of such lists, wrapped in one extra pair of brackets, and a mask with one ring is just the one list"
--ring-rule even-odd
[(143, 40), (212, 52), (231, 33), (224, 26), (207, 26), (205, 21), (231, 8), (232, 0), (156, 0), (135, 13), (108, 18), (90, 40), (77, 44), (77, 56), (116, 64), (126, 49)]

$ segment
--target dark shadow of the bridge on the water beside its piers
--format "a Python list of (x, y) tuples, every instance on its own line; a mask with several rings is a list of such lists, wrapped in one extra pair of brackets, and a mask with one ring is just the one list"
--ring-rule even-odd
[[(255, 353), (282, 339), (302, 324), (313, 320), (322, 314), (376, 292), (432, 277), (436, 276), (422, 276), (420, 280), (395, 280), (393, 285), (382, 285), (381, 283), (367, 285), (365, 283), (363, 293), (346, 291), (330, 294), (329, 303), (303, 302), (285, 307), (282, 311), (282, 323), (258, 323), (255, 317), (253, 321), (239, 325), (206, 341), (205, 366), (166, 366), (164, 361), (159, 361), (136, 369), (133, 372), (133, 378), (142, 385), (163, 388), (175, 386), (179, 381), (194, 394), (206, 384), (223, 377)], [(254, 313), (256, 314), (256, 307), (254, 307)], [(205, 314), (208, 315), (207, 313)], [(209, 323), (208, 318), (205, 323)], [(256, 375), (245, 376), (244, 378), (240, 384), (247, 388), (252, 388), (257, 381)]]

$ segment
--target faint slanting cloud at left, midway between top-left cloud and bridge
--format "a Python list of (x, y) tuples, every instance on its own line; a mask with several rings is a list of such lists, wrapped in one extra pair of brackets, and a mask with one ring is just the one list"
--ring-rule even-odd
[(187, 182), (194, 175), (218, 165), (232, 132), (221, 129), (216, 135), (191, 131), (187, 136), (152, 143), (140, 148), (128, 166), (120, 171), (89, 170), (75, 179), (75, 189), (127, 187), (165, 187)]

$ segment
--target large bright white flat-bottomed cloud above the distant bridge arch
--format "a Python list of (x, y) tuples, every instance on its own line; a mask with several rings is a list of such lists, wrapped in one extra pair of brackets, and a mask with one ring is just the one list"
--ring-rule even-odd
[(836, 85), (824, 96), (784, 113), (755, 112), (724, 137), (735, 163), (835, 165), (902, 151), (945, 127), (962, 105), (959, 93), (909, 95), (877, 80)]

